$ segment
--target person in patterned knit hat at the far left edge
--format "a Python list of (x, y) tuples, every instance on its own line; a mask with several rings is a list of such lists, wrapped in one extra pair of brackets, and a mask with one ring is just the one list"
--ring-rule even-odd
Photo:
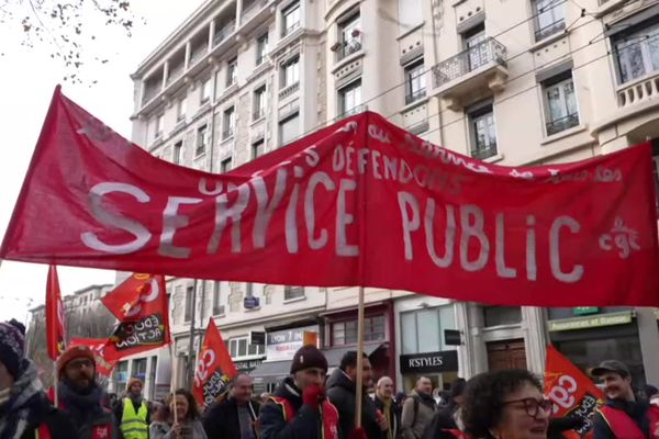
[(24, 335), (15, 319), (0, 323), (0, 438), (75, 439), (74, 426), (44, 393), (36, 365), (24, 358)]

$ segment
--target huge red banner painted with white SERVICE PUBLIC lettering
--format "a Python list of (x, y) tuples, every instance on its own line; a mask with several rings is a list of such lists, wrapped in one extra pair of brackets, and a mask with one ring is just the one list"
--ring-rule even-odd
[(658, 256), (649, 144), (501, 167), (362, 113), (217, 176), (150, 156), (59, 90), (0, 250), (539, 306), (657, 306)]

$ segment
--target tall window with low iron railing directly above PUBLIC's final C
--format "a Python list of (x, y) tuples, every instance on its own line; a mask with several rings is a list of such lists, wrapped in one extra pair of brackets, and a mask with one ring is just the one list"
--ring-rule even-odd
[(543, 83), (547, 135), (579, 125), (572, 72), (566, 71)]

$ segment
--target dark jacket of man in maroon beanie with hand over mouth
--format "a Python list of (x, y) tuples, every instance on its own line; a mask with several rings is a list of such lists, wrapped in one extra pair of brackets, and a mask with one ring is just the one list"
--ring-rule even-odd
[[(324, 427), (339, 429), (338, 426), (323, 425), (330, 419), (323, 417), (324, 410), (313, 409), (303, 404), (301, 392), (290, 376), (279, 384), (272, 396), (273, 398), (261, 407), (258, 419), (260, 439), (320, 439), (325, 437), (322, 430)], [(291, 405), (295, 413), (292, 419), (286, 417), (284, 408), (277, 403), (277, 398), (286, 399)], [(330, 404), (326, 402), (326, 405)], [(325, 409), (327, 408), (336, 410), (336, 407), (326, 406)]]

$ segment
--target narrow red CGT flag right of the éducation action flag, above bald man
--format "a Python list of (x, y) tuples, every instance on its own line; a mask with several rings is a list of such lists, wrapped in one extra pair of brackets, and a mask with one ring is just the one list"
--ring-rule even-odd
[(194, 397), (200, 404), (211, 404), (228, 389), (228, 382), (236, 373), (222, 335), (210, 318), (194, 371)]

